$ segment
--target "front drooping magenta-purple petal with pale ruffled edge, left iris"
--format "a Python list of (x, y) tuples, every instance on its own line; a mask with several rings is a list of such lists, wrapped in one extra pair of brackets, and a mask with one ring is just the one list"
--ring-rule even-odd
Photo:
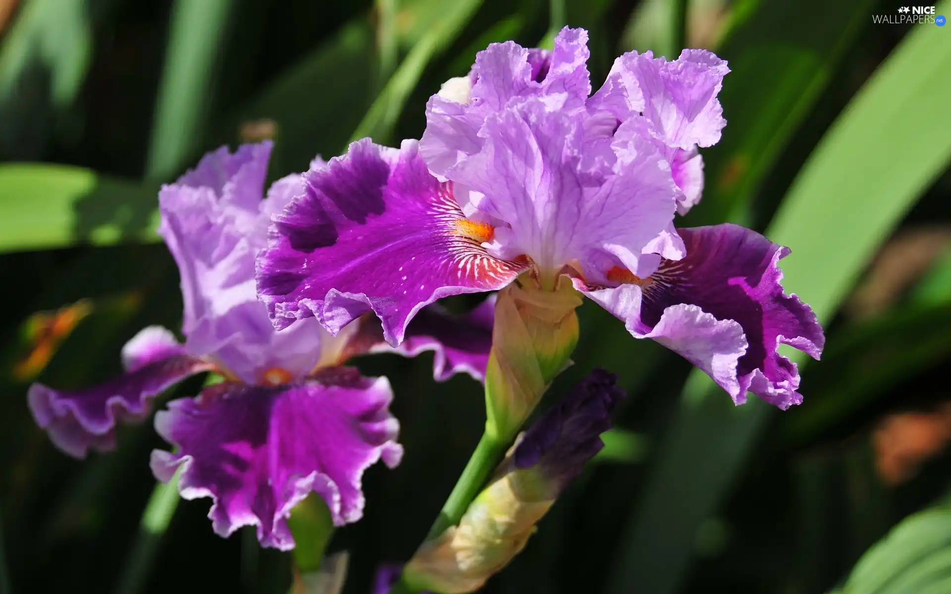
[(216, 533), (257, 526), (262, 546), (294, 547), (287, 517), (308, 493), (327, 502), (334, 524), (363, 514), (363, 470), (380, 458), (399, 463), (399, 423), (385, 377), (340, 374), (339, 385), (308, 381), (276, 387), (212, 386), (175, 400), (155, 428), (177, 452), (152, 452), (152, 471), (168, 481), (182, 467), (184, 499), (211, 497)]

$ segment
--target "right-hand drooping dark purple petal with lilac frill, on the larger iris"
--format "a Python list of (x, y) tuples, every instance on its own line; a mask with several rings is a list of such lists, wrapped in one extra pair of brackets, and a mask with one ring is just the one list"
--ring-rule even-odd
[(747, 391), (782, 409), (799, 404), (796, 365), (777, 349), (788, 344), (819, 358), (825, 335), (812, 310), (783, 292), (778, 262), (789, 249), (733, 224), (678, 231), (686, 258), (663, 261), (640, 285), (590, 297), (631, 334), (683, 354), (737, 404)]

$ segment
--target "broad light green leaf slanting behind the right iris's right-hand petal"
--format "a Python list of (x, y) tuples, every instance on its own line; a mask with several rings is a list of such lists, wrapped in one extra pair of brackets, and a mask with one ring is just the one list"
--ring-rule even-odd
[[(942, 3), (939, 12), (948, 8)], [(823, 322), (951, 158), (951, 136), (935, 125), (951, 97), (946, 34), (939, 27), (908, 33), (825, 134), (767, 230), (771, 240), (792, 248), (783, 261), (784, 285)], [(793, 359), (803, 362), (800, 355)], [(611, 592), (677, 588), (697, 527), (719, 507), (772, 411), (756, 399), (732, 408), (726, 394), (694, 370), (625, 530)]]

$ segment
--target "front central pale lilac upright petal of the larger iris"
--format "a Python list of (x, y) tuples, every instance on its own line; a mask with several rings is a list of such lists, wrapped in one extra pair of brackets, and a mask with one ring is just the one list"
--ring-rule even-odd
[(637, 269), (644, 248), (670, 226), (679, 192), (653, 142), (631, 136), (623, 162), (592, 167), (583, 158), (592, 148), (586, 118), (526, 101), (490, 117), (482, 150), (450, 171), (450, 180), (484, 195), (481, 213), (507, 223), (496, 228), (495, 256), (525, 254), (545, 276), (576, 260), (600, 278), (616, 261)]

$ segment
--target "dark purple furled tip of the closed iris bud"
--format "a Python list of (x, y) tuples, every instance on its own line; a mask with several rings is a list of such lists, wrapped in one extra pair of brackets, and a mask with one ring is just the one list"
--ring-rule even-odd
[(604, 447), (611, 413), (626, 393), (617, 375), (597, 368), (525, 431), (514, 451), (518, 469), (537, 467), (559, 487), (571, 481)]

